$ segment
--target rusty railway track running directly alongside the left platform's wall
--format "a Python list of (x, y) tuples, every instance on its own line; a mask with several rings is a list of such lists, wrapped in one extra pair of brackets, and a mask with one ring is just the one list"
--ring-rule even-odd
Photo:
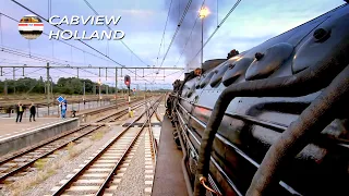
[[(140, 108), (145, 102), (134, 103), (133, 109)], [(95, 122), (112, 122), (128, 113), (128, 109), (123, 109), (108, 117), (103, 117)], [(12, 183), (17, 176), (23, 176), (31, 172), (31, 167), (39, 159), (53, 156), (58, 150), (63, 149), (70, 143), (79, 143), (80, 139), (91, 135), (93, 132), (100, 130), (104, 124), (91, 126), (89, 124), (83, 125), (79, 128), (69, 131), (64, 134), (56, 136), (44, 144), (31, 148), (21, 154), (9, 157), (0, 161), (0, 183), (1, 187), (5, 183)]]

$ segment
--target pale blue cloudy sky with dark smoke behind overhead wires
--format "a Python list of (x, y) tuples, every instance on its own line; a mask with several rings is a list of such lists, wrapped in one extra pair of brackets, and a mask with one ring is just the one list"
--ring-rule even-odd
[[(49, 16), (49, 0), (16, 0), (27, 7), (36, 14), (47, 19)], [(169, 44), (173, 37), (178, 23), (183, 15), (188, 0), (88, 0), (89, 4), (99, 15), (121, 16), (118, 25), (110, 25), (115, 30), (123, 30), (125, 37), (122, 41), (132, 50), (133, 54), (120, 40), (86, 40), (85, 42), (108, 56), (115, 62), (106, 60), (100, 53), (94, 51), (77, 40), (65, 41), (69, 45), (57, 40), (49, 40), (47, 36), (41, 35), (35, 40), (28, 41), (17, 32), (17, 22), (8, 19), (21, 20), (22, 16), (33, 14), (11, 0), (0, 0), (1, 12), (1, 34), (0, 45), (4, 51), (15, 51), (16, 54), (0, 51), (0, 65), (45, 65), (47, 60), (51, 64), (81, 65), (88, 66), (178, 66), (189, 65), (195, 68), (200, 63), (201, 46), (201, 21), (197, 20), (197, 10), (200, 10), (203, 0), (193, 0), (188, 13), (183, 19), (172, 46)], [(212, 35), (217, 24), (225, 19), (226, 14), (236, 3), (236, 0), (206, 0), (205, 4), (209, 9), (209, 15), (204, 20), (204, 41)], [(248, 50), (268, 38), (293, 28), (306, 21), (310, 21), (340, 4), (342, 0), (242, 0), (230, 16), (225, 21), (219, 30), (210, 39), (204, 49), (204, 60), (226, 58), (228, 51), (236, 48), (239, 51)], [(165, 24), (170, 9), (164, 41)], [(88, 16), (95, 15), (84, 0), (51, 0), (51, 15), (61, 17), (72, 15)], [(5, 15), (3, 15), (5, 14)], [(197, 21), (196, 21), (197, 20)], [(45, 24), (45, 33), (57, 32), (58, 28), (48, 23)], [(194, 26), (195, 24), (195, 26)], [(193, 27), (194, 26), (194, 27)], [(109, 30), (106, 26), (60, 25), (63, 29), (86, 30), (91, 35), (94, 30)], [(193, 30), (192, 30), (193, 29)], [(161, 47), (160, 47), (161, 44)], [(79, 48), (79, 49), (77, 49)], [(167, 52), (168, 51), (168, 52)], [(19, 53), (20, 52), (20, 53)], [(167, 53), (166, 58), (165, 54)], [(31, 54), (33, 58), (26, 58)], [(40, 58), (38, 60), (38, 58)], [(141, 59), (141, 60), (140, 60)], [(0, 79), (13, 78), (13, 72), (3, 69), (4, 76)], [(134, 71), (133, 71), (134, 72)], [(141, 72), (141, 71), (139, 71)], [(101, 81), (108, 84), (115, 84), (115, 70), (101, 72)], [(123, 71), (123, 75), (127, 74)], [(119, 75), (120, 75), (119, 71)], [(129, 73), (134, 76), (134, 73)], [(143, 73), (137, 73), (143, 75)], [(171, 74), (171, 75), (169, 75)], [(46, 77), (45, 70), (27, 70), (25, 76)], [(56, 81), (60, 76), (76, 76), (73, 70), (56, 70), (50, 75)], [(155, 83), (169, 85), (173, 79), (181, 75), (181, 72), (167, 71), (164, 73), (152, 74), (145, 72), (147, 81), (140, 77), (135, 83), (151, 84)], [(22, 76), (22, 70), (16, 70), (15, 77)], [(152, 76), (152, 77), (149, 77)], [(157, 76), (157, 77), (155, 77)], [(98, 79), (98, 71), (93, 73), (80, 71), (80, 77), (89, 77), (92, 81)], [(122, 81), (122, 77), (119, 78)]]

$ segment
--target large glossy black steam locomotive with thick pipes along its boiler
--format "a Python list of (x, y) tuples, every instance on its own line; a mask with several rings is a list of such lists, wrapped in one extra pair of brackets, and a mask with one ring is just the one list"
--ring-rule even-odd
[(349, 195), (349, 5), (168, 97), (190, 195)]

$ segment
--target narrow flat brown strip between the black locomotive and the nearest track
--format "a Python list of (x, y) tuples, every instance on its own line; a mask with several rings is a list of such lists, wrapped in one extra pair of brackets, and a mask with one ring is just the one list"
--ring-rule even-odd
[(172, 133), (173, 127), (170, 120), (167, 117), (164, 117), (158, 143), (153, 196), (188, 195), (181, 167), (183, 154), (177, 148)]

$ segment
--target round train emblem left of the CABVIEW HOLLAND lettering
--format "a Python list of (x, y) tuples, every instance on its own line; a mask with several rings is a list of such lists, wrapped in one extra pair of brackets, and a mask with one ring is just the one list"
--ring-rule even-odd
[(36, 15), (25, 15), (19, 23), (19, 32), (26, 39), (36, 39), (44, 32), (44, 23)]

